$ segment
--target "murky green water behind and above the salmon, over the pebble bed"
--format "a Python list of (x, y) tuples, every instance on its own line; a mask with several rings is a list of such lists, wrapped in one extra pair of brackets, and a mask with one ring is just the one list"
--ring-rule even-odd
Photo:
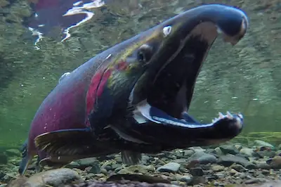
[[(242, 112), (242, 136), (281, 130), (279, 1), (0, 0), (0, 146), (27, 138), (37, 108), (64, 72), (189, 8), (235, 5), (250, 20), (236, 46), (218, 39), (197, 79), (190, 114), (209, 122)], [(281, 133), (270, 136), (278, 141)]]

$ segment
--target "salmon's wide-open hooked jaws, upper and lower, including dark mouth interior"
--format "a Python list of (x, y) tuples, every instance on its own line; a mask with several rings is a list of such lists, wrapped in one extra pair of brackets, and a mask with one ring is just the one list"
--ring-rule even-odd
[(143, 32), (138, 37), (141, 44), (136, 59), (141, 59), (145, 69), (139, 77), (132, 76), (137, 79), (130, 86), (131, 94), (126, 103), (129, 105), (128, 123), (112, 123), (110, 127), (127, 142), (158, 143), (166, 148), (172, 148), (169, 143), (178, 148), (204, 146), (237, 136), (242, 129), (239, 115), (226, 116), (226, 119), (210, 124), (200, 124), (185, 115), (197, 75), (218, 34), (234, 45), (242, 39), (247, 27), (247, 16), (242, 11), (207, 5), (193, 8)]

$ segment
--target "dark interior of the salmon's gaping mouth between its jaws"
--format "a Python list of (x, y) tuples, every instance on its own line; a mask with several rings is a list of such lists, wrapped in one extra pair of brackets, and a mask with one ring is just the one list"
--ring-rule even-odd
[(197, 76), (218, 36), (217, 31), (214, 23), (202, 22), (179, 42), (179, 46), (173, 46), (176, 52), (155, 76), (148, 98), (136, 107), (138, 123), (165, 120), (168, 124), (186, 125), (182, 115), (189, 108)]

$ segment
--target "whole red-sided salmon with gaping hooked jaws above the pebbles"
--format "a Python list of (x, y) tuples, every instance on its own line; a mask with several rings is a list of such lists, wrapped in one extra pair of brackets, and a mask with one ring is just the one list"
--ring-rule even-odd
[(218, 34), (237, 44), (247, 15), (218, 4), (192, 8), (103, 51), (63, 75), (32, 120), (19, 172), (39, 155), (42, 165), (122, 153), (207, 146), (242, 131), (242, 114), (200, 123), (188, 115), (197, 76)]

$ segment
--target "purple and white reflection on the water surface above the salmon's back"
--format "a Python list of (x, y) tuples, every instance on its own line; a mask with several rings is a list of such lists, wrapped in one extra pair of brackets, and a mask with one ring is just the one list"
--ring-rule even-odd
[(95, 15), (92, 11), (93, 8), (104, 6), (105, 1), (41, 0), (32, 4), (35, 12), (27, 25), (32, 35), (37, 36), (34, 42), (36, 46), (44, 35), (48, 35), (55, 27), (60, 28), (60, 33), (57, 34), (62, 34), (61, 41), (65, 41), (71, 36), (70, 29), (93, 18)]

